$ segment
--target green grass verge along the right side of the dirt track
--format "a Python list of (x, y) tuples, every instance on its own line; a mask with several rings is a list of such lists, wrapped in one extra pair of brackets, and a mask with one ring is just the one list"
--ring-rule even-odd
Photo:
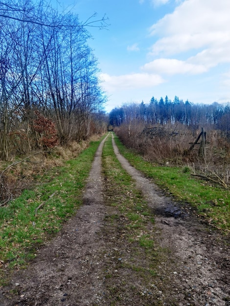
[(120, 153), (132, 166), (152, 178), (176, 200), (190, 203), (207, 222), (225, 233), (230, 233), (230, 190), (215, 187), (193, 178), (187, 168), (156, 167), (141, 156), (125, 148), (115, 136)]

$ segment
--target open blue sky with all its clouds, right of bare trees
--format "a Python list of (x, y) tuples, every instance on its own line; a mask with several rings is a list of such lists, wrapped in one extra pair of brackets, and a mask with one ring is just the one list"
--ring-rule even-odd
[(95, 12), (96, 19), (109, 18), (108, 30), (88, 28), (109, 98), (106, 111), (123, 103), (148, 104), (152, 96), (230, 102), (230, 0), (64, 3), (80, 21)]

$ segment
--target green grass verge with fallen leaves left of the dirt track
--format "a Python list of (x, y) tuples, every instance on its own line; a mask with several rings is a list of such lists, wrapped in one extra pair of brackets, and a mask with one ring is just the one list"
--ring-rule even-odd
[[(63, 167), (48, 170), (34, 190), (0, 208), (0, 284), (5, 268), (36, 256), (36, 246), (58, 232), (82, 203), (82, 191), (100, 141), (94, 141)], [(1, 276), (0, 275), (0, 276)]]

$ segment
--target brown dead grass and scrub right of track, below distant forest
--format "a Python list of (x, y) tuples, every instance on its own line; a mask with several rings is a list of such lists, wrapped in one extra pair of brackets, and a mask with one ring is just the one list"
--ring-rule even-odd
[(216, 180), (226, 188), (230, 186), (230, 143), (220, 131), (207, 131), (205, 158), (199, 153), (199, 142), (191, 149), (200, 130), (192, 131), (181, 124), (143, 126), (136, 121), (131, 128), (125, 124), (116, 127), (115, 133), (145, 161), (160, 166), (187, 166), (197, 175), (208, 172), (215, 178), (210, 177), (210, 183)]

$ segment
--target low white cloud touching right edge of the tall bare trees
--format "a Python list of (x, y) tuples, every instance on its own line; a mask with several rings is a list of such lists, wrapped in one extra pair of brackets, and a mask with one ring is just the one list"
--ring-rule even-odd
[(154, 87), (164, 82), (160, 75), (151, 73), (133, 73), (119, 76), (102, 73), (100, 78), (104, 81), (102, 86), (109, 92)]

